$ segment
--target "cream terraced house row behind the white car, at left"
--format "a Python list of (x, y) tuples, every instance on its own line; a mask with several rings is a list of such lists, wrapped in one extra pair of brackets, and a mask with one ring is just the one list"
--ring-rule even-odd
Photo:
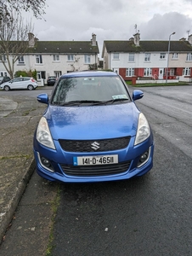
[[(14, 65), (16, 71), (37, 71), (37, 80), (57, 78), (63, 73), (94, 69), (98, 66), (99, 47), (96, 35), (90, 41), (39, 41), (29, 33), (28, 49)], [(6, 74), (3, 63), (0, 73)]]

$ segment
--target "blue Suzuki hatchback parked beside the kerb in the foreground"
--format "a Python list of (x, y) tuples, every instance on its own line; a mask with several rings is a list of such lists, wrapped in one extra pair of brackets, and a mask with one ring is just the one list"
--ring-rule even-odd
[(87, 71), (62, 75), (34, 135), (37, 173), (65, 183), (89, 183), (144, 175), (153, 166), (150, 125), (117, 73)]

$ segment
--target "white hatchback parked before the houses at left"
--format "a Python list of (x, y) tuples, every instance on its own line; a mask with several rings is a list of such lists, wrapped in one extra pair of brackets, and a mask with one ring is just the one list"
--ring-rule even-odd
[(14, 89), (28, 89), (34, 90), (37, 88), (37, 81), (29, 77), (20, 77), (12, 79), (6, 83), (0, 85), (3, 90), (14, 90)]

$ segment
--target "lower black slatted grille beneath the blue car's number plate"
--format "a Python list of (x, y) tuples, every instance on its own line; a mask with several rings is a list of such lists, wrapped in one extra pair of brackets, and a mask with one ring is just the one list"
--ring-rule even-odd
[(114, 165), (104, 166), (71, 166), (71, 165), (60, 165), (63, 172), (66, 175), (78, 176), (78, 177), (93, 177), (93, 176), (106, 176), (121, 174), (127, 172), (131, 161), (125, 161)]

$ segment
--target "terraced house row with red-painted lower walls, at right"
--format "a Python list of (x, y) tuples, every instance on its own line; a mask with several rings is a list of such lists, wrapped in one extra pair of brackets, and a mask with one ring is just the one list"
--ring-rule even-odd
[[(168, 57), (169, 53), (169, 57)], [(192, 77), (192, 35), (188, 41), (140, 40), (137, 32), (126, 41), (104, 41), (104, 69), (119, 73), (123, 79), (178, 79)]]

